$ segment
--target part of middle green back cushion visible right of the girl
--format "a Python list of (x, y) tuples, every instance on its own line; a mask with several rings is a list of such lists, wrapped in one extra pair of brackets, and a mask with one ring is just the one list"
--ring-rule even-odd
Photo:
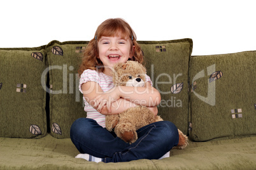
[(147, 74), (159, 90), (159, 115), (188, 134), (188, 64), (192, 39), (138, 41), (145, 55)]

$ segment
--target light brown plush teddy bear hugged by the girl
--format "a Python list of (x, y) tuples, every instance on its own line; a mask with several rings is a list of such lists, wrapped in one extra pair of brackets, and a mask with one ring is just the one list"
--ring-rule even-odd
[[(146, 82), (146, 68), (139, 62), (127, 61), (117, 63), (113, 67), (113, 83), (115, 86), (143, 87)], [(159, 115), (154, 115), (147, 107), (139, 105), (131, 107), (120, 114), (106, 115), (106, 129), (115, 131), (118, 138), (127, 143), (134, 143), (138, 139), (136, 130), (153, 122), (163, 121)], [(180, 129), (179, 143), (176, 148), (185, 148), (188, 139)]]

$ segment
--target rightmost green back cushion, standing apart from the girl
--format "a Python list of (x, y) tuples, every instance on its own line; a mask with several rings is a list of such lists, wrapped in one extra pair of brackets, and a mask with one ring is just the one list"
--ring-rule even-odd
[(256, 134), (256, 51), (192, 56), (190, 138)]

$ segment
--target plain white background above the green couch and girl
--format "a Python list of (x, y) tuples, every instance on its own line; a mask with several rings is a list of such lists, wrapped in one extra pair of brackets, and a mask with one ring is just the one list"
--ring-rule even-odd
[(108, 18), (124, 18), (139, 41), (191, 38), (192, 55), (256, 50), (253, 1), (1, 1), (0, 48), (90, 41)]

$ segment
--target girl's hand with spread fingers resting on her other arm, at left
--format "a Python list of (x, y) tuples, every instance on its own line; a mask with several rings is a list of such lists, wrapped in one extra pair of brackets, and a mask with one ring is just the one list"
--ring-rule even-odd
[(118, 94), (118, 88), (113, 88), (102, 95), (97, 95), (92, 101), (92, 107), (96, 108), (98, 112), (101, 112), (103, 107), (106, 106), (108, 113), (111, 113), (111, 104), (120, 98)]

